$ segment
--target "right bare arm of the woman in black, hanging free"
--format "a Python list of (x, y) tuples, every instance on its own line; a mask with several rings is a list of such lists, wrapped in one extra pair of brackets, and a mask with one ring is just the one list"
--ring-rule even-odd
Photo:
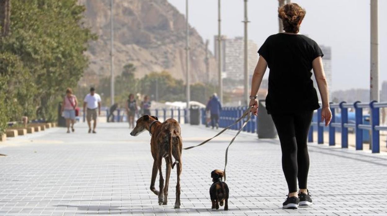
[(324, 67), (322, 66), (322, 58), (320, 56), (312, 61), (312, 67), (322, 100), (321, 119), (325, 120), (325, 126), (327, 126), (332, 119), (332, 113), (329, 108), (327, 78), (325, 77)]

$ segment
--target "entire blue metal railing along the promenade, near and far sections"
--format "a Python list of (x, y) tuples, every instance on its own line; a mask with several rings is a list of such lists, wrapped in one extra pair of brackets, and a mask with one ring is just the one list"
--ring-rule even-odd
[[(373, 153), (380, 152), (380, 137), (379, 131), (387, 131), (387, 126), (379, 124), (380, 108), (387, 107), (387, 102), (361, 103), (359, 101), (350, 104), (341, 102), (339, 104), (330, 104), (332, 112), (332, 121), (327, 128), (324, 128), (325, 122), (321, 122), (321, 108), (317, 110), (317, 116), (312, 122), (308, 133), (308, 142), (313, 142), (313, 131), (317, 130), (317, 143), (324, 143), (324, 130), (329, 133), (329, 145), (336, 145), (336, 132), (341, 132), (341, 147), (348, 148), (348, 133), (349, 129), (353, 130), (356, 139), (356, 150), (363, 150), (363, 141), (370, 139), (370, 145)], [(236, 119), (242, 116), (247, 107), (223, 107), (219, 115), (219, 127), (225, 128), (232, 124)], [(348, 109), (354, 109), (354, 112), (349, 112)], [(370, 115), (363, 114), (363, 109), (370, 109)], [(152, 109), (151, 114), (157, 116), (160, 121), (165, 121), (168, 118), (174, 118), (179, 123), (188, 123), (187, 109)], [(205, 109), (200, 109), (200, 119), (202, 124), (206, 124)], [(109, 116), (109, 110), (106, 109), (106, 116)], [(126, 113), (122, 109), (118, 109), (115, 115), (115, 121), (127, 121)], [(370, 124), (367, 119), (370, 119)], [(243, 131), (249, 133), (256, 133), (257, 117), (252, 116)], [(233, 130), (238, 130), (243, 122), (231, 127)], [(368, 138), (368, 131), (370, 131), (370, 138)], [(386, 143), (387, 144), (387, 143)]]

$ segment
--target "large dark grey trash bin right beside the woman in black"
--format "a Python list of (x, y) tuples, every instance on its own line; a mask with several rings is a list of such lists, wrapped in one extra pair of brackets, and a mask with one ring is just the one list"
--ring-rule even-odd
[(277, 138), (277, 130), (271, 115), (267, 114), (265, 100), (258, 101), (257, 133), (259, 139)]

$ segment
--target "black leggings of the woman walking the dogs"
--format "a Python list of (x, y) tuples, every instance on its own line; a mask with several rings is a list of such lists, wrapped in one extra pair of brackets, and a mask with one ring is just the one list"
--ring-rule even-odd
[(289, 193), (307, 189), (309, 154), (307, 146), (308, 131), (313, 111), (294, 114), (272, 115), (277, 128), (282, 150), (282, 169), (288, 182)]

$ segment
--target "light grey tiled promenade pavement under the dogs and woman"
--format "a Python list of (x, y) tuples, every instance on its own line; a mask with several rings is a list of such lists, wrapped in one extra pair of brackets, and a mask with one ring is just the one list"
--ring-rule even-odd
[[(130, 137), (124, 123), (103, 123), (97, 134), (86, 132), (85, 124), (77, 124), (74, 134), (53, 128), (0, 143), (0, 153), (8, 155), (0, 158), (0, 215), (387, 215), (385, 154), (310, 144), (308, 187), (315, 204), (283, 210), (287, 188), (279, 142), (242, 133), (229, 150), (230, 211), (211, 210), (210, 172), (223, 169), (235, 133), (230, 131), (183, 151), (182, 206), (175, 210), (176, 170), (168, 205), (159, 206), (149, 190), (149, 134)], [(183, 125), (183, 145), (214, 133)]]

